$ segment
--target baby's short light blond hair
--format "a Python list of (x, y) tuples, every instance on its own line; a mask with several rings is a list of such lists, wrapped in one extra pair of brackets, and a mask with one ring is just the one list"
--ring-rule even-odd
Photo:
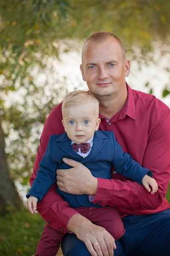
[(86, 103), (89, 100), (95, 102), (99, 105), (98, 99), (96, 99), (91, 93), (84, 91), (84, 90), (77, 90), (68, 93), (62, 102), (62, 113), (65, 108), (71, 108), (76, 105), (81, 105), (82, 103)]

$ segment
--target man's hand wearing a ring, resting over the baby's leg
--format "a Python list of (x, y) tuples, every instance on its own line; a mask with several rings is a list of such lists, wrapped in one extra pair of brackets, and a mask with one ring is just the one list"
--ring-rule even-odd
[(76, 214), (68, 221), (67, 229), (85, 243), (92, 256), (113, 256), (113, 249), (116, 249), (115, 239), (103, 227), (96, 226), (82, 215)]

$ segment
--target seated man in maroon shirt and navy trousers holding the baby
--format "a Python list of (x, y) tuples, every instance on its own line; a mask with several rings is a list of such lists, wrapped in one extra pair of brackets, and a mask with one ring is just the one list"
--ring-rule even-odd
[[(125, 235), (116, 241), (116, 256), (160, 256), (170, 253), (170, 204), (164, 198), (170, 180), (170, 110), (152, 95), (131, 90), (125, 77), (130, 61), (115, 35), (99, 32), (87, 39), (80, 65), (90, 93), (99, 100), (100, 130), (113, 131), (134, 160), (153, 172), (158, 192), (150, 195), (136, 182), (112, 170), (112, 180), (95, 178), (74, 160), (69, 170), (57, 170), (57, 185), (64, 192), (94, 196), (93, 203), (117, 207)], [(42, 132), (31, 184), (49, 137), (62, 134), (61, 104), (49, 115)], [(37, 209), (48, 223), (45, 229), (67, 233), (65, 256), (112, 256), (116, 248), (110, 234), (84, 218), (51, 188)], [(51, 237), (52, 239), (52, 237)], [(81, 241), (80, 241), (81, 240)]]

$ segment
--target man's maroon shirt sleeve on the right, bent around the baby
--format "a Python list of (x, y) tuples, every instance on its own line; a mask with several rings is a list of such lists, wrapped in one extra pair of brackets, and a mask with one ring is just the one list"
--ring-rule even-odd
[(170, 111), (167, 110), (151, 131), (145, 149), (143, 166), (153, 173), (158, 191), (153, 195), (129, 180), (98, 179), (98, 188), (93, 203), (116, 206), (122, 214), (138, 214), (155, 210), (163, 202), (170, 180)]

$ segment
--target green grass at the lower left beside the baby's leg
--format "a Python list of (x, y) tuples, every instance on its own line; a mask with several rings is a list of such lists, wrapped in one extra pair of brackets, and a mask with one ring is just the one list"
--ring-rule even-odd
[[(170, 202), (170, 186), (166, 198)], [(44, 225), (39, 214), (27, 210), (0, 217), (0, 256), (34, 255)]]

